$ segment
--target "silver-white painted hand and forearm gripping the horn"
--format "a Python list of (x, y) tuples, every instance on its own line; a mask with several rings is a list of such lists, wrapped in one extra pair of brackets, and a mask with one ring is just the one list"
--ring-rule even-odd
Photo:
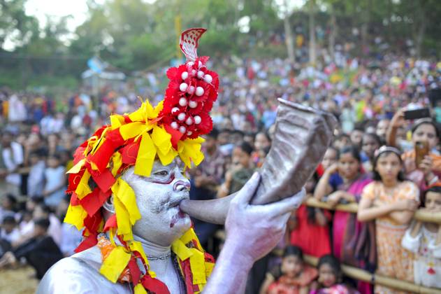
[(291, 211), (305, 197), (305, 191), (301, 190), (279, 202), (251, 205), (259, 180), (259, 174), (255, 173), (231, 200), (226, 216), (224, 248), (203, 293), (244, 293), (253, 263), (282, 239)]

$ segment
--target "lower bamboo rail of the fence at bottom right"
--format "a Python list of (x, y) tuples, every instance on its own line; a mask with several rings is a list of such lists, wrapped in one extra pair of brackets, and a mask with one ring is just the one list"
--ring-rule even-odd
[[(308, 264), (317, 267), (318, 258), (312, 255), (303, 255), (303, 259)], [(419, 286), (414, 283), (408, 281), (401, 281), (398, 279), (389, 278), (388, 276), (382, 276), (381, 274), (371, 274), (370, 272), (359, 269), (356, 267), (350, 267), (349, 265), (342, 265), (342, 272), (346, 276), (350, 276), (351, 278), (366, 281), (368, 283), (374, 283), (382, 286), (386, 286), (389, 288), (394, 288), (396, 290), (401, 290), (405, 292), (411, 293), (424, 293), (424, 294), (441, 294), (440, 289), (435, 288), (427, 288), (424, 286)]]

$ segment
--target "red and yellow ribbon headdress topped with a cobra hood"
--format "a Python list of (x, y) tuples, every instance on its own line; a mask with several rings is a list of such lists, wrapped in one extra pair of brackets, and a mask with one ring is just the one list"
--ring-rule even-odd
[[(116, 283), (133, 283), (135, 293), (168, 293), (155, 278), (139, 241), (133, 240), (132, 227), (141, 216), (136, 195), (122, 180), (124, 171), (150, 176), (154, 160), (169, 165), (178, 157), (186, 167), (203, 160), (201, 134), (212, 129), (209, 112), (217, 99), (219, 78), (206, 67), (208, 57), (198, 57), (198, 39), (205, 29), (182, 33), (180, 48), (187, 62), (167, 71), (170, 80), (164, 101), (153, 107), (148, 101), (133, 113), (110, 116), (110, 125), (97, 130), (74, 154), (74, 166), (68, 171), (71, 203), (66, 223), (82, 230), (84, 241), (76, 252), (98, 243), (103, 254), (100, 272)], [(101, 207), (113, 195), (115, 214), (106, 222)], [(110, 240), (100, 235), (109, 232)], [(119, 240), (116, 244), (115, 236)], [(191, 228), (172, 244), (188, 293), (203, 289), (214, 260), (203, 251)], [(145, 267), (145, 274), (137, 264)]]

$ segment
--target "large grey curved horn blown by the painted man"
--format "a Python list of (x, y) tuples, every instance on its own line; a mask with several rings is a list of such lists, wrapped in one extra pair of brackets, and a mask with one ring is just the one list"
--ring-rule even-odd
[[(259, 170), (252, 204), (267, 204), (298, 193), (315, 172), (337, 123), (331, 113), (279, 99), (270, 152)], [(224, 224), (235, 194), (215, 200), (183, 200), (180, 209), (208, 223)]]

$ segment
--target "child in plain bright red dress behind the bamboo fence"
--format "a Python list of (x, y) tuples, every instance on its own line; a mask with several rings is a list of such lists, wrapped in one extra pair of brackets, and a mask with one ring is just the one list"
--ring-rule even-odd
[[(306, 182), (305, 200), (313, 196), (317, 179), (317, 174), (314, 174)], [(329, 211), (302, 204), (293, 212), (288, 221), (288, 228), (291, 231), (291, 245), (299, 246), (305, 254), (316, 257), (331, 253), (329, 221), (331, 221)]]

